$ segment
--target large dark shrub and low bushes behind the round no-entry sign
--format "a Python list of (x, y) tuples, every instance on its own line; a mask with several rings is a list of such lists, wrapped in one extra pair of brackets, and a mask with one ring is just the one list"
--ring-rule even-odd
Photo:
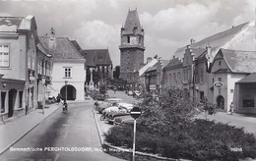
[[(172, 87), (159, 99), (151, 98), (146, 94), (140, 104), (143, 115), (137, 125), (137, 150), (202, 161), (256, 157), (253, 134), (227, 124), (195, 119), (200, 106), (186, 90)], [(132, 148), (132, 135), (132, 125), (124, 125), (110, 129), (105, 138), (114, 145)]]

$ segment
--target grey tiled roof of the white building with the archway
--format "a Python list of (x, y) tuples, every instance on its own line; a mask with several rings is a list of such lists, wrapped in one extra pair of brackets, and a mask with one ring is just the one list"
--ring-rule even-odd
[(76, 47), (71, 43), (68, 37), (56, 37), (56, 47), (49, 47), (49, 37), (40, 36), (41, 43), (46, 48), (47, 52), (53, 56), (53, 60), (81, 60), (85, 58), (80, 54)]

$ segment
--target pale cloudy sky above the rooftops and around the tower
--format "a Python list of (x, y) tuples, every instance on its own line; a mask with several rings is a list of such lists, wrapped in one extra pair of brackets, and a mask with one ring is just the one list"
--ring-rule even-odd
[(120, 28), (128, 10), (145, 29), (145, 60), (169, 60), (177, 48), (256, 20), (255, 0), (0, 0), (0, 16), (35, 17), (38, 35), (76, 39), (83, 49), (108, 48), (120, 65)]

